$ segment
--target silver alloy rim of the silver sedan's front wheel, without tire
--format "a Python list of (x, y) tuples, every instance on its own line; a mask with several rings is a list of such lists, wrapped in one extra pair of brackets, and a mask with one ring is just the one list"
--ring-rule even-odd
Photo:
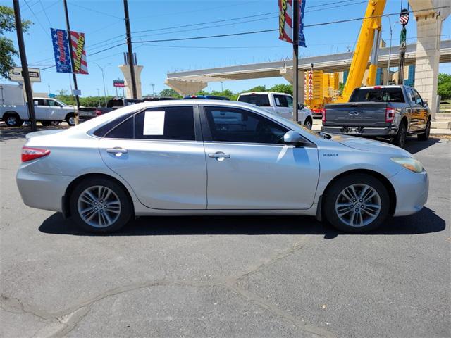
[(381, 196), (367, 184), (352, 184), (338, 194), (335, 211), (350, 227), (364, 227), (376, 220), (381, 212)]

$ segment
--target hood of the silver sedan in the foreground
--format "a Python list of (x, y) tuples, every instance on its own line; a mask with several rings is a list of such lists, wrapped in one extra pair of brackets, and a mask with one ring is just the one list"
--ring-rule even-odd
[(332, 139), (333, 141), (349, 146), (352, 149), (393, 154), (394, 156), (412, 156), (409, 151), (401, 149), (399, 146), (394, 146), (393, 144), (380, 142), (373, 139), (364, 139), (362, 137), (352, 137), (347, 135), (332, 135)]

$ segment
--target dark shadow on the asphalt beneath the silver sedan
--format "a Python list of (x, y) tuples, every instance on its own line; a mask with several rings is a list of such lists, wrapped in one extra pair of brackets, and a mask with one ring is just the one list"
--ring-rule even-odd
[[(445, 220), (429, 208), (415, 215), (388, 218), (371, 234), (426, 234), (445, 230)], [(80, 230), (61, 213), (54, 213), (39, 226), (47, 234), (95, 236)], [(264, 234), (318, 234), (333, 239), (338, 232), (326, 223), (309, 216), (147, 216), (132, 220), (110, 236), (176, 236), (176, 235), (264, 235)]]

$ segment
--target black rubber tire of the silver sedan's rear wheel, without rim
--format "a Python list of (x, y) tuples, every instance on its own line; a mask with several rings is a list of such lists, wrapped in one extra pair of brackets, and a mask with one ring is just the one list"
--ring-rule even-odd
[[(78, 211), (78, 199), (80, 197), (80, 194), (82, 194), (82, 192), (85, 192), (85, 190), (89, 187), (96, 186), (107, 187), (111, 189), (114, 194), (116, 194), (118, 201), (121, 204), (118, 218), (116, 219), (116, 221), (114, 221), (114, 223), (106, 227), (94, 227), (92, 225), (89, 225), (89, 223), (85, 222), (85, 220), (82, 219), (82, 216)], [(113, 180), (109, 180), (106, 177), (92, 177), (77, 184), (75, 189), (73, 189), (72, 194), (70, 194), (69, 205), (70, 215), (72, 215), (72, 219), (75, 224), (81, 227), (83, 230), (92, 232), (94, 234), (111, 234), (112, 232), (118, 231), (130, 221), (130, 218), (132, 218), (133, 214), (132, 201), (130, 200), (128, 193), (121, 186), (121, 184), (118, 184)], [(94, 217), (94, 219), (95, 218), (96, 217)]]

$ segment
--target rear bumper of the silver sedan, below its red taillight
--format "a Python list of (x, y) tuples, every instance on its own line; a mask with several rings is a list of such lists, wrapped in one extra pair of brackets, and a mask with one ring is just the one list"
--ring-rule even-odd
[(22, 165), (16, 175), (16, 183), (23, 203), (32, 208), (60, 211), (61, 196), (74, 177), (33, 173)]

